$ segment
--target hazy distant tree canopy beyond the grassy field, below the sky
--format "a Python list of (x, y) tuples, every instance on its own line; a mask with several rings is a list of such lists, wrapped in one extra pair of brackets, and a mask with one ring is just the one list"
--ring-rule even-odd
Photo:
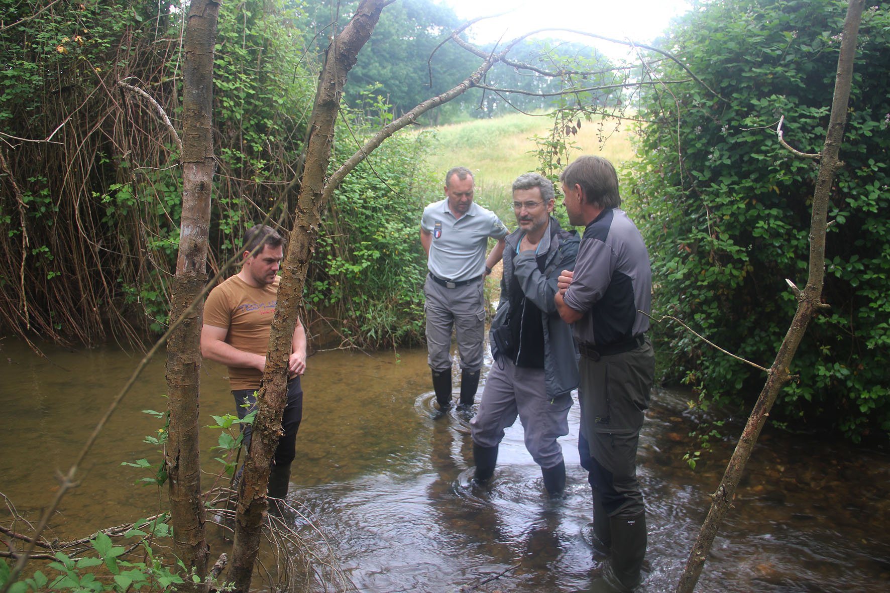
[[(316, 35), (317, 42), (334, 22), (344, 22), (358, 2), (336, 3), (308, 0), (305, 10), (311, 17), (303, 28)], [(337, 14), (336, 7), (340, 13)], [(433, 0), (402, 0), (387, 6), (349, 75), (344, 97), (355, 109), (369, 109), (388, 103), (395, 117), (401, 116), (427, 98), (441, 94), (463, 80), (481, 62), (479, 55), (449, 43), (452, 31), (462, 21), (445, 4)], [(462, 38), (465, 35), (462, 34)], [(506, 41), (506, 40), (505, 40)], [(481, 46), (486, 53), (503, 49), (503, 44)], [(547, 110), (566, 104), (556, 96), (573, 82), (580, 69), (600, 69), (603, 77), (613, 76), (610, 62), (589, 45), (554, 39), (523, 40), (511, 52), (511, 61), (529, 64), (556, 73), (553, 77), (532, 76), (528, 70), (506, 63), (496, 64), (484, 77), (485, 86), (519, 93), (498, 93), (473, 88), (424, 118), (436, 125), (461, 118), (491, 118), (511, 110)], [(562, 74), (560, 74), (562, 73)], [(592, 81), (591, 81), (592, 82)], [(554, 96), (542, 96), (554, 93)], [(600, 93), (602, 101), (607, 93)], [(580, 101), (590, 101), (585, 95)]]

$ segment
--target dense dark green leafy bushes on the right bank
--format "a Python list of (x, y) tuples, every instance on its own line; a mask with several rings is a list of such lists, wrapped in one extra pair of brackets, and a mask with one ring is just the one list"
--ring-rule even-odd
[[(673, 64), (640, 115), (632, 179), (655, 274), (653, 312), (733, 353), (773, 361), (803, 287), (818, 152), (837, 69), (845, 3), (725, 0), (703, 4), (667, 44), (715, 93)], [(890, 12), (863, 15), (838, 173), (831, 191), (824, 301), (800, 345), (773, 420), (831, 426), (854, 440), (890, 433)], [(719, 95), (719, 96), (718, 96)], [(738, 402), (764, 376), (672, 321), (657, 324), (670, 372), (700, 402)]]

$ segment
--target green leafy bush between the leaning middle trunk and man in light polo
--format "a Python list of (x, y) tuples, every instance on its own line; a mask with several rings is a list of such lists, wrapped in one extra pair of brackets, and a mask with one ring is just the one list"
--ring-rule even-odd
[[(352, 119), (359, 127), (338, 131), (337, 161), (383, 125)], [(422, 171), (424, 150), (423, 134), (394, 136), (334, 192), (305, 288), (311, 319), (332, 321), (313, 322), (314, 332), (333, 330), (341, 345), (377, 348), (422, 340), (426, 260), (420, 216), (433, 199), (426, 192), (440, 186)]]

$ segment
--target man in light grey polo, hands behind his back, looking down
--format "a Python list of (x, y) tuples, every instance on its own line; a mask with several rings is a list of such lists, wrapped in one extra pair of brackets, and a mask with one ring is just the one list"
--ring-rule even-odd
[[(425, 207), (420, 242), (427, 256), (426, 347), (440, 413), (451, 407), (451, 330), (460, 353), (459, 409), (469, 410), (479, 387), (485, 341), (482, 280), (504, 253), (507, 230), (498, 215), (473, 204), (473, 173), (445, 175), (445, 199)], [(498, 240), (488, 258), (489, 237)]]

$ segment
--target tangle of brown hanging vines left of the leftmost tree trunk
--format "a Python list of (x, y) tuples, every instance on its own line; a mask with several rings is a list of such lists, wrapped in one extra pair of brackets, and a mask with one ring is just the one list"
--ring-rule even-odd
[[(148, 200), (132, 159), (166, 160), (170, 136), (126, 102), (117, 80), (172, 94), (166, 14), (125, 0), (33, 6), (0, 1), (0, 323), (85, 343), (127, 328), (118, 313), (138, 296), (147, 230), (169, 210), (168, 181)], [(136, 108), (131, 110), (131, 108)], [(172, 110), (171, 110), (172, 111)], [(134, 140), (138, 129), (142, 138)], [(154, 181), (156, 169), (144, 172)], [(160, 217), (163, 217), (161, 215)], [(109, 306), (120, 305), (120, 306)]]

